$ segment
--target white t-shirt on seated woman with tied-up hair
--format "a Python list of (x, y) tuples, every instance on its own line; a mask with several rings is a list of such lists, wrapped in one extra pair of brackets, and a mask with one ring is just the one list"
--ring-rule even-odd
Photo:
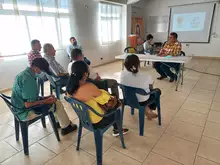
[[(153, 80), (151, 76), (148, 76), (146, 74), (133, 74), (125, 68), (124, 71), (121, 72), (120, 77), (120, 84), (135, 87), (135, 88), (141, 88), (144, 89), (147, 93), (150, 92), (149, 85), (153, 84)], [(136, 94), (138, 102), (144, 102), (149, 99), (149, 95), (139, 95)]]

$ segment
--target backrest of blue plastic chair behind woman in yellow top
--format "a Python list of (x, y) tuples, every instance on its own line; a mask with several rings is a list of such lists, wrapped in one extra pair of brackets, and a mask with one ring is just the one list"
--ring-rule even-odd
[(74, 109), (77, 116), (79, 117), (79, 120), (82, 126), (90, 131), (93, 131), (93, 125), (90, 120), (90, 115), (88, 112), (88, 110), (92, 108), (77, 99), (66, 97), (66, 96), (64, 98), (68, 103), (71, 104), (72, 108)]

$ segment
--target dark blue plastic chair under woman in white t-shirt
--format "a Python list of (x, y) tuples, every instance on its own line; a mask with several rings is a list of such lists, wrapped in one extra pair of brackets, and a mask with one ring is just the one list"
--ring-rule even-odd
[(124, 114), (124, 107), (126, 105), (131, 107), (131, 115), (134, 115), (134, 109), (139, 110), (140, 136), (144, 135), (145, 106), (140, 106), (136, 94), (140, 94), (140, 95), (155, 94), (155, 100), (152, 100), (151, 102), (149, 102), (148, 105), (152, 103), (157, 104), (158, 123), (159, 125), (161, 125), (160, 96), (157, 95), (156, 91), (151, 91), (147, 93), (145, 90), (140, 89), (140, 88), (129, 87), (129, 86), (121, 85), (121, 84), (119, 84), (119, 86), (122, 89), (122, 93), (124, 97), (124, 104), (122, 106), (122, 115)]

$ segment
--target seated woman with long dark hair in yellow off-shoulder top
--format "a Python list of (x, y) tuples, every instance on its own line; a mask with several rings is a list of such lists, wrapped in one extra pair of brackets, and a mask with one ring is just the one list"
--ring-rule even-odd
[[(88, 65), (83, 61), (74, 62), (72, 64), (71, 75), (66, 87), (68, 95), (86, 103), (100, 114), (104, 114), (108, 111), (106, 107), (116, 107), (116, 97), (111, 96), (105, 90), (98, 89), (94, 84), (87, 82), (88, 77)], [(115, 117), (115, 115), (110, 115), (103, 118), (90, 110), (89, 115), (94, 128), (106, 127)], [(117, 125), (114, 124), (113, 127), (113, 136), (119, 136)], [(126, 134), (127, 132), (128, 129), (123, 129), (123, 134)]]

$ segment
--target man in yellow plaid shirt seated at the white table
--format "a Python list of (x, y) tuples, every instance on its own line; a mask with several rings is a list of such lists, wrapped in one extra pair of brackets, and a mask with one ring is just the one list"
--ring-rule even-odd
[[(159, 56), (178, 56), (180, 55), (180, 52), (182, 50), (181, 43), (177, 40), (178, 35), (177, 33), (170, 33), (168, 42), (164, 45), (164, 47), (160, 50)], [(160, 74), (160, 77), (157, 78), (158, 80), (162, 80), (164, 78), (170, 77), (170, 82), (173, 82), (177, 79), (177, 75), (175, 75), (173, 72), (171, 72), (170, 68), (175, 68), (179, 64), (177, 63), (161, 63), (161, 62), (155, 62), (154, 68), (156, 71)]]

